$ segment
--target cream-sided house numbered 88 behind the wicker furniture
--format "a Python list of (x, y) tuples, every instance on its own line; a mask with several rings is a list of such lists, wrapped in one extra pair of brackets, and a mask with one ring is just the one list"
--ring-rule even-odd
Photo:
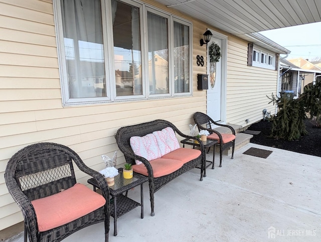
[[(64, 144), (100, 170), (101, 155), (118, 150), (114, 135), (122, 126), (162, 118), (189, 134), (196, 111), (242, 126), (262, 119), (264, 108), (274, 113), (266, 95), (279, 91), (279, 54), (289, 51), (254, 32), (290, 26), (283, 11), (268, 9), (270, 1), (260, 11), (252, 1), (187, 2), (0, 0), (0, 230), (23, 220), (4, 172), (27, 145)], [(304, 15), (299, 5), (284, 6)], [(321, 21), (313, 14), (303, 22)], [(200, 46), (206, 30), (213, 34), (208, 46), (215, 42), (222, 53), (211, 70), (207, 45)], [(166, 68), (149, 62), (155, 55)], [(135, 89), (128, 73), (139, 65)], [(209, 89), (198, 90), (198, 74), (214, 73)], [(119, 154), (117, 165), (124, 162)]]

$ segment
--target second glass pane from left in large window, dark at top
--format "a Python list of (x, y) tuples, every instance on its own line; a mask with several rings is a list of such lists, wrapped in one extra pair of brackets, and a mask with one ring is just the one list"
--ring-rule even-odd
[(111, 1), (116, 95), (142, 94), (139, 9)]

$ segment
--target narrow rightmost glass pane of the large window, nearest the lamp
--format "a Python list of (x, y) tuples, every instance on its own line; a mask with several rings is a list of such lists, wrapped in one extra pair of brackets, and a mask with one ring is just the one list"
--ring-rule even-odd
[(190, 90), (190, 30), (174, 22), (174, 82), (175, 93)]

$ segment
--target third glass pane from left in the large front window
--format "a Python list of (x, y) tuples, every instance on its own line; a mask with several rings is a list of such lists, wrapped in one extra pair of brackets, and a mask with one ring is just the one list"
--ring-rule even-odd
[(149, 93), (169, 93), (168, 20), (147, 12)]

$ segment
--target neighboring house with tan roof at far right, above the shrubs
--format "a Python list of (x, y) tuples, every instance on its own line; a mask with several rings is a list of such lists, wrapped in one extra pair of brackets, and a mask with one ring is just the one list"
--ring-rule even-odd
[(318, 67), (302, 57), (288, 59), (287, 61), (296, 66), (296, 68), (292, 68), (292, 71), (296, 71), (300, 76), (301, 84), (297, 88), (298, 94), (304, 91), (304, 86), (315, 81), (315, 79), (319, 78), (317, 76), (321, 74), (321, 67)]

